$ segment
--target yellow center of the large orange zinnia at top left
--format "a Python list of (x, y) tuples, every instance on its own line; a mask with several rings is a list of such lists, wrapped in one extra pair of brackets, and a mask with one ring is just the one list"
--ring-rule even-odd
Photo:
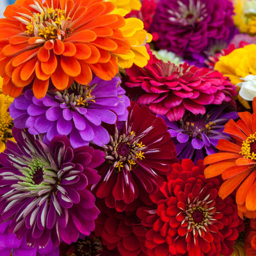
[(72, 31), (67, 28), (66, 12), (60, 9), (38, 7), (41, 13), (33, 13), (31, 21), (28, 22), (26, 31), (28, 36), (40, 36), (45, 40), (59, 38), (64, 39)]

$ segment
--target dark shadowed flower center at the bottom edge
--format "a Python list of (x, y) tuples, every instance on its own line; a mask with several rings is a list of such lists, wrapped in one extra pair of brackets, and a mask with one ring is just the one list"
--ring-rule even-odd
[(98, 256), (100, 251), (102, 251), (102, 243), (98, 237), (78, 239), (75, 244), (74, 256)]

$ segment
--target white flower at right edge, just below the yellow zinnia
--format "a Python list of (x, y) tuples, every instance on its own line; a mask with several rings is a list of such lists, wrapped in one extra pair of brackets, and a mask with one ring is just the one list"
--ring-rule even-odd
[(240, 87), (239, 95), (245, 100), (253, 100), (256, 97), (256, 76), (249, 75), (244, 78), (242, 83), (236, 84), (237, 87)]

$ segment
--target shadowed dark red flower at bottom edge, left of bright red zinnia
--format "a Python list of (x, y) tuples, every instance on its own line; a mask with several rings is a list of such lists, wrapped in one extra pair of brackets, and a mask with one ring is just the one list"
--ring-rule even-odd
[(101, 212), (95, 221), (95, 234), (109, 250), (118, 250), (120, 256), (145, 256), (143, 250), (145, 227), (134, 212)]

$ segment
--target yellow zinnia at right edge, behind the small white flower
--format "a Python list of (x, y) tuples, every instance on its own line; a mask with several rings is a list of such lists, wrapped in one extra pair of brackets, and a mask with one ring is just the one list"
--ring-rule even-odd
[[(248, 75), (256, 76), (256, 45), (245, 45), (243, 48), (235, 49), (225, 56), (221, 56), (216, 62), (214, 69), (223, 76), (228, 76), (232, 84), (241, 83), (241, 78)], [(239, 91), (239, 88), (237, 88)], [(250, 108), (248, 102), (237, 95), (238, 100), (245, 108)]]

